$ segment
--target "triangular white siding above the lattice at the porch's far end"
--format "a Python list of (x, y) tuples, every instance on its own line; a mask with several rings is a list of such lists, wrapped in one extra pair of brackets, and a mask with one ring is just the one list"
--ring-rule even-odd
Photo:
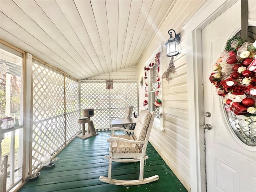
[(88, 80), (105, 80), (105, 79), (125, 79), (125, 80), (134, 80), (137, 79), (137, 66), (127, 67), (124, 69), (116, 70), (110, 73), (105, 73), (102, 75), (98, 75), (92, 78), (88, 78)]

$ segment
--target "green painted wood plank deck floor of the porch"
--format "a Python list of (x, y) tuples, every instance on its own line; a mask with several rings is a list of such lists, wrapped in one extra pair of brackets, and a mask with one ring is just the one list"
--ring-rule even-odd
[[(99, 176), (108, 176), (109, 153), (106, 141), (110, 132), (82, 140), (75, 138), (57, 157), (52, 169), (41, 169), (37, 180), (28, 181), (19, 192), (187, 192), (172, 170), (149, 143), (144, 166), (144, 178), (158, 174), (159, 180), (137, 186), (106, 184)], [(139, 162), (112, 162), (112, 178), (135, 180), (139, 177)]]

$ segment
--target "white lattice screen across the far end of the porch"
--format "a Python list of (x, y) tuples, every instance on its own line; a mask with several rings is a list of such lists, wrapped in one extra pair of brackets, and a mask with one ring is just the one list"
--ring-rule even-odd
[[(108, 130), (111, 116), (124, 116), (127, 105), (134, 105), (133, 111), (138, 114), (138, 96), (136, 80), (113, 80), (114, 89), (106, 89), (102, 80), (81, 81), (80, 104), (84, 108), (94, 108), (96, 130)], [(82, 112), (81, 112), (82, 117)]]

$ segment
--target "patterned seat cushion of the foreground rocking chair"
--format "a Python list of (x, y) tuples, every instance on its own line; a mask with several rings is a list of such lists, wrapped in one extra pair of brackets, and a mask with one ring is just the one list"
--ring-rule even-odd
[[(136, 140), (134, 135), (115, 135), (114, 137), (128, 140)], [(112, 153), (141, 153), (142, 149), (137, 144), (130, 144), (122, 141), (114, 141), (112, 144)]]

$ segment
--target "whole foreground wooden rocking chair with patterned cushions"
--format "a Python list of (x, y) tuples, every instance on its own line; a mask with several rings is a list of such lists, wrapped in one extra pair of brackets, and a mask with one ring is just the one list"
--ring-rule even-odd
[[(110, 142), (108, 158), (108, 177), (100, 176), (102, 182), (115, 185), (140, 185), (153, 182), (159, 179), (158, 175), (149, 178), (144, 176), (144, 160), (146, 156), (146, 148), (150, 136), (151, 128), (154, 122), (155, 112), (148, 112), (141, 110), (138, 115), (138, 122), (134, 130), (127, 130), (124, 128), (113, 127), (112, 135), (108, 139)], [(116, 130), (123, 130), (124, 132), (134, 132), (132, 135), (115, 135)], [(125, 158), (125, 159), (123, 159)], [(116, 180), (111, 178), (112, 161), (116, 162), (140, 162), (140, 176), (138, 180)]]

